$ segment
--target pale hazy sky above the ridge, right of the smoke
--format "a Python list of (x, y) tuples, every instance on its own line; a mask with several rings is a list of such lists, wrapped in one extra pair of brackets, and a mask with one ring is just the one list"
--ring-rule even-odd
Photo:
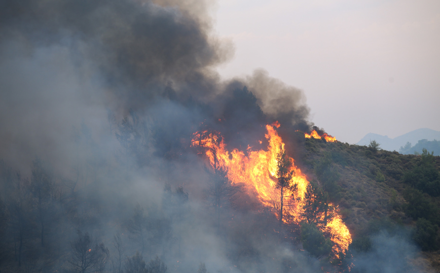
[(338, 140), (440, 130), (440, 1), (219, 0), (225, 78), (263, 68), (302, 89)]

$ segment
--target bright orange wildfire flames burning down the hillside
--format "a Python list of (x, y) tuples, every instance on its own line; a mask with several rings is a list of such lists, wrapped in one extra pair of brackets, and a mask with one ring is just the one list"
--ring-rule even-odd
[[(195, 132), (191, 141), (193, 147), (205, 149), (205, 154), (212, 166), (216, 162), (228, 171), (228, 178), (232, 184), (245, 185), (247, 191), (255, 193), (259, 201), (264, 206), (272, 208), (278, 217), (280, 192), (276, 187), (276, 158), (280, 147), (284, 149), (284, 143), (276, 131), (279, 126), (278, 122), (266, 125), (267, 133), (265, 137), (269, 142), (267, 150), (253, 151), (249, 147), (246, 151), (247, 155), (238, 149), (228, 152), (223, 138), (215, 131)], [(301, 172), (301, 169), (295, 166), (294, 159), (290, 158), (290, 160), (292, 161), (290, 171), (294, 171), (290, 186), (297, 185), (297, 190), (292, 192), (286, 189), (283, 194), (284, 203), (287, 203), (283, 212), (283, 221), (285, 223), (299, 223), (302, 220), (301, 201), (304, 199), (309, 181)], [(336, 255), (339, 251), (345, 252), (348, 249), (348, 245), (351, 243), (351, 235), (337, 210), (333, 220), (320, 228), (322, 231), (331, 234), (331, 239), (335, 243), (333, 251)]]

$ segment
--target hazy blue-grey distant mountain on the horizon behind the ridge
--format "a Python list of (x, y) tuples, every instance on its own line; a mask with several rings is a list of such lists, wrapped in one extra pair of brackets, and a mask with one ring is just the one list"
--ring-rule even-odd
[(440, 131), (435, 131), (428, 128), (421, 128), (411, 131), (406, 134), (399, 135), (394, 139), (388, 138), (387, 135), (380, 135), (377, 133), (368, 133), (363, 137), (357, 145), (368, 146), (370, 141), (375, 140), (380, 144), (380, 148), (387, 151), (399, 151), (400, 147), (404, 147), (408, 142), (412, 146), (416, 145), (420, 140), (440, 141)]

